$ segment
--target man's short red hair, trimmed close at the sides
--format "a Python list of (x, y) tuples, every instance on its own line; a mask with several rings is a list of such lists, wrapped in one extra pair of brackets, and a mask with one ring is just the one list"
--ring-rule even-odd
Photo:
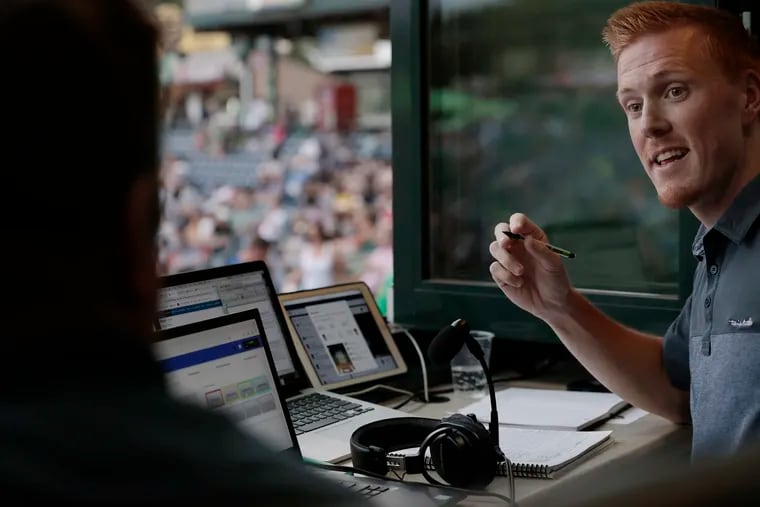
[(615, 11), (602, 39), (617, 62), (620, 53), (639, 37), (692, 26), (704, 33), (705, 50), (735, 77), (746, 69), (760, 70), (760, 48), (736, 14), (716, 7), (678, 2), (636, 2)]

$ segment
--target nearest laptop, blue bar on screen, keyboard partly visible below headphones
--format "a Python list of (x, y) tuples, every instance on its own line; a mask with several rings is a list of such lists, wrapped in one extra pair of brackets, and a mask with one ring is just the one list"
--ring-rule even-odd
[[(153, 348), (172, 395), (225, 414), (275, 452), (302, 458), (257, 309), (158, 331)], [(364, 494), (379, 506), (454, 505), (465, 497), (426, 484), (323, 469), (315, 473)]]

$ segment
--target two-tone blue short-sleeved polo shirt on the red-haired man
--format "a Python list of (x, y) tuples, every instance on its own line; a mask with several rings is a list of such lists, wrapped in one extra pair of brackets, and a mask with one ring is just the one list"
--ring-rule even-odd
[(760, 441), (760, 176), (699, 228), (694, 288), (665, 334), (665, 369), (690, 391), (692, 458)]

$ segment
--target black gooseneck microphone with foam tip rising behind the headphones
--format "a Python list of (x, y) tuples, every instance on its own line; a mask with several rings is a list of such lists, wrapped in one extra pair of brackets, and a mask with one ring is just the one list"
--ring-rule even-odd
[(483, 372), (486, 374), (488, 392), (491, 396), (491, 422), (488, 425), (488, 432), (491, 434), (491, 441), (496, 446), (497, 453), (503, 460), (504, 453), (499, 447), (499, 414), (496, 410), (496, 391), (493, 386), (493, 378), (491, 378), (491, 370), (488, 368), (483, 348), (470, 335), (470, 325), (467, 321), (457, 319), (449, 326), (441, 329), (428, 346), (428, 357), (436, 364), (449, 363), (463, 345), (467, 345), (467, 349), (480, 362), (480, 366), (483, 367)]

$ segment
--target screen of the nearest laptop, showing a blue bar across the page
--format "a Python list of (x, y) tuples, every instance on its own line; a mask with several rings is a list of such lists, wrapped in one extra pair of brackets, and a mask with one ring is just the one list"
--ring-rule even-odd
[(275, 451), (295, 451), (295, 434), (271, 368), (256, 310), (158, 333), (154, 354), (173, 396), (227, 415)]

